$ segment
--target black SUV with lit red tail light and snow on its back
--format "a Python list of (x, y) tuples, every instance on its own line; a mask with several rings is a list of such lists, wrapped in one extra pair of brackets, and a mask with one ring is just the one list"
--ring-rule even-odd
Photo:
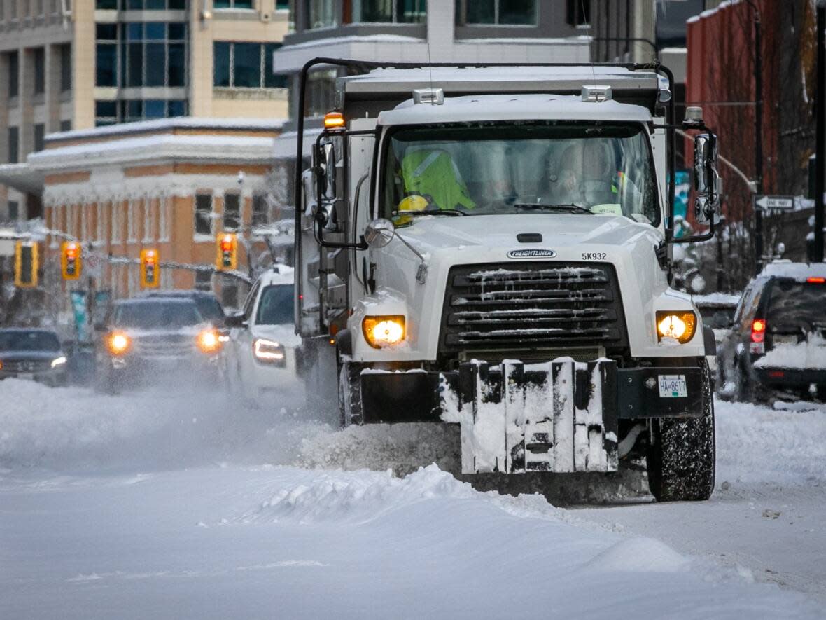
[(826, 398), (826, 265), (767, 265), (743, 291), (718, 357), (724, 396)]

